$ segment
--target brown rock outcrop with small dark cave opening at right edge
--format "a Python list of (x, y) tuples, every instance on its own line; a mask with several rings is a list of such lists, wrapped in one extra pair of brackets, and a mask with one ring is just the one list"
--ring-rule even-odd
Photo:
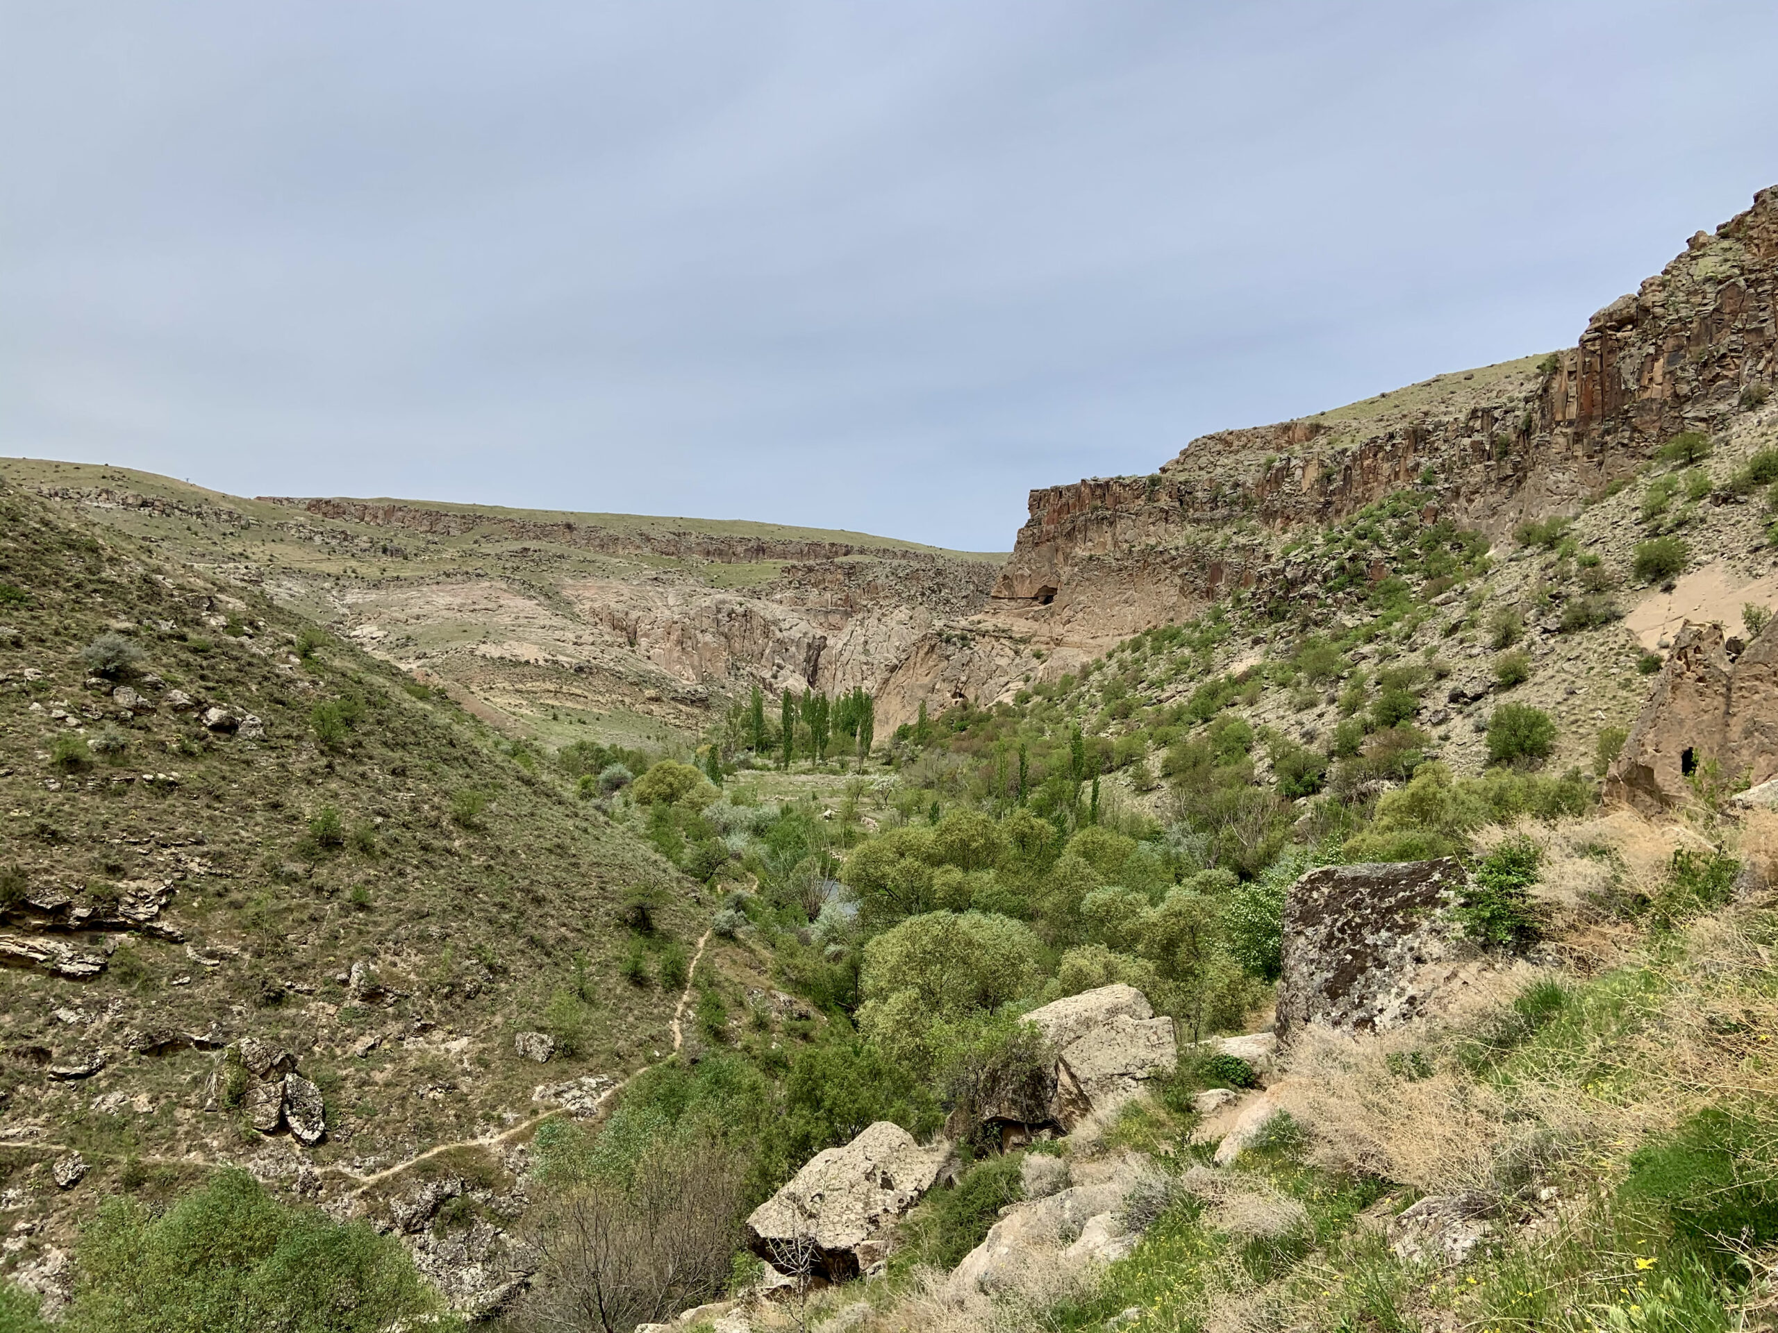
[(1691, 778), (1762, 786), (1778, 777), (1778, 633), (1746, 649), (1721, 626), (1686, 626), (1623, 750), (1606, 800), (1659, 812), (1693, 800)]

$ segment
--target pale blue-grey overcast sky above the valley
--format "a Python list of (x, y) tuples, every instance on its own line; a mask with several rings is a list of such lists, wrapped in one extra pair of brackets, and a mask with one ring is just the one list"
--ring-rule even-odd
[(0, 453), (1006, 549), (1574, 343), (1778, 5), (0, 0)]

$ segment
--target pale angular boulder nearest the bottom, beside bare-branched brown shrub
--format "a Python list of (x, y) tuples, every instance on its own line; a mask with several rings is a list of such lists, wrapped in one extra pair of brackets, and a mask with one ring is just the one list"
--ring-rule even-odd
[(781, 1273), (852, 1278), (887, 1255), (889, 1230), (932, 1189), (951, 1145), (923, 1148), (878, 1120), (845, 1148), (818, 1152), (747, 1219), (747, 1242)]

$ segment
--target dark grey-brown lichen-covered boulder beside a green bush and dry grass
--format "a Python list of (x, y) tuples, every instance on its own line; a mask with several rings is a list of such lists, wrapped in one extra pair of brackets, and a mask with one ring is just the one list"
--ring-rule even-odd
[(1431, 965), (1451, 951), (1447, 908), (1463, 885), (1449, 857), (1325, 866), (1291, 885), (1278, 1042), (1309, 1024), (1374, 1033), (1417, 1015), (1435, 985)]

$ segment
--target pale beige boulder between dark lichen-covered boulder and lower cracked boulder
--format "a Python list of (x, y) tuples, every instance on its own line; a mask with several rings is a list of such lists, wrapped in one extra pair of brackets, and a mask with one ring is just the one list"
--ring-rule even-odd
[(1099, 986), (1026, 1015), (1056, 1049), (1051, 1116), (1072, 1129), (1086, 1114), (1115, 1111), (1141, 1084), (1179, 1063), (1173, 1020), (1154, 1017), (1134, 986)]

